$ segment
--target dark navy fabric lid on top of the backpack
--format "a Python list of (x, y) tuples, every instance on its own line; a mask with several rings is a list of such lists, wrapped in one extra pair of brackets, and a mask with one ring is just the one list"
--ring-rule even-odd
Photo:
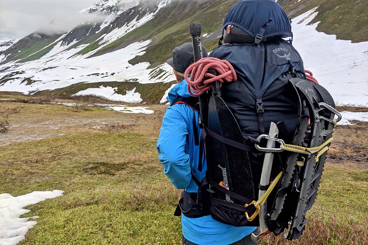
[(290, 21), (280, 4), (273, 0), (241, 0), (227, 13), (223, 29), (234, 25), (251, 37), (256, 37), (265, 24), (272, 19), (262, 33), (263, 38), (272, 36), (292, 37)]

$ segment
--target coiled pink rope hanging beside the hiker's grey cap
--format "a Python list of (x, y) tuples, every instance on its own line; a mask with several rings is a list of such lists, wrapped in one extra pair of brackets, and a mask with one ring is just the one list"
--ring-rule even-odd
[[(211, 69), (215, 69), (219, 75), (215, 76), (209, 73), (208, 71)], [(189, 73), (192, 74), (190, 79), (188, 78)], [(209, 90), (211, 83), (216, 80), (220, 82), (220, 87), (224, 82), (237, 80), (235, 70), (229, 61), (212, 57), (202, 58), (191, 64), (185, 71), (184, 78), (188, 83), (188, 92), (194, 97), (198, 97)]]

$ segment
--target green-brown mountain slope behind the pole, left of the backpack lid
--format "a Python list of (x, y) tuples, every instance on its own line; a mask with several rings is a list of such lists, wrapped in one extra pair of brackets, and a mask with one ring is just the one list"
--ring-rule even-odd
[(101, 48), (93, 56), (126, 47), (133, 42), (151, 39), (154, 41), (146, 49), (146, 53), (130, 60), (130, 63), (137, 64), (147, 61), (151, 63), (149, 68), (153, 68), (170, 58), (174, 47), (191, 41), (188, 25), (193, 22), (202, 24), (202, 33), (210, 35), (214, 32), (203, 40), (207, 49), (212, 50), (216, 47), (217, 36), (221, 35), (220, 29), (226, 13), (236, 2), (237, 0), (210, 0), (202, 3), (181, 1), (170, 4), (156, 14), (151, 21)]

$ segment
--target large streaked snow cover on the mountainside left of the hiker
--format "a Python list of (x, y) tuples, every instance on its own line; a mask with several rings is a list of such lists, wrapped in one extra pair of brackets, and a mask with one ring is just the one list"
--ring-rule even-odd
[[(99, 1), (98, 3), (102, 2), (105, 5), (100, 6), (100, 9), (106, 8), (106, 4), (111, 1)], [(144, 11), (143, 14), (142, 12), (137, 12), (137, 15), (132, 16), (131, 22), (124, 23), (121, 27), (104, 33), (98, 40), (99, 47), (85, 54), (78, 54), (78, 52), (86, 48), (89, 45), (88, 43), (75, 45), (79, 41), (77, 39), (66, 42), (66, 37), (71, 35), (72, 30), (61, 36), (52, 45), (50, 44), (52, 46), (50, 51), (39, 59), (24, 63), (18, 63), (18, 60), (15, 60), (6, 63), (2, 67), (0, 66), (0, 90), (29, 93), (66, 87), (78, 82), (125, 80), (141, 83), (169, 82), (171, 68), (168, 65), (147, 69), (150, 65), (148, 62), (135, 65), (128, 63), (129, 60), (137, 55), (144, 54), (144, 50), (151, 43), (151, 40), (134, 42), (125, 48), (89, 58), (109, 43), (148, 22), (168, 3), (170, 3), (170, 0), (159, 1), (152, 11), (146, 8), (145, 4), (142, 4), (140, 9)], [(123, 12), (123, 16), (125, 16), (125, 12)], [(105, 27), (102, 26), (102, 28), (98, 29), (101, 30), (103, 28)], [(108, 26), (106, 26), (107, 28)], [(164, 77), (160, 76), (160, 80), (152, 78), (152, 73), (150, 74), (151, 71), (157, 69), (163, 75), (166, 74)]]

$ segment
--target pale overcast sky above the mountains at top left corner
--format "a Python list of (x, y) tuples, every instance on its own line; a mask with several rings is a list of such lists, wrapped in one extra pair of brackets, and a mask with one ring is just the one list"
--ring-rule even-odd
[(59, 29), (71, 29), (86, 18), (78, 12), (96, 1), (0, 0), (0, 40), (24, 37), (53, 20)]

